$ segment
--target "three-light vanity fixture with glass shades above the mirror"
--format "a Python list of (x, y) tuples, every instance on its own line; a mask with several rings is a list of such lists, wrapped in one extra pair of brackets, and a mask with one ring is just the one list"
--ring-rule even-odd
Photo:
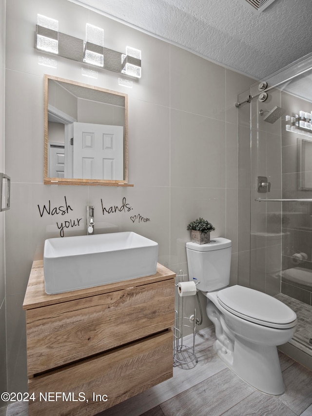
[[(49, 20), (49, 18), (45, 19)], [(55, 21), (57, 22), (57, 20)], [(103, 46), (103, 29), (87, 23), (86, 40), (82, 40), (55, 30), (58, 27), (56, 25), (52, 29), (51, 27), (43, 26), (43, 24), (47, 25), (47, 23), (44, 23), (38, 17), (35, 48), (40, 52), (53, 55), (57, 54), (62, 58), (86, 63), (98, 69), (102, 68), (107, 71), (117, 72), (118, 74), (124, 74), (133, 79), (141, 77), (141, 51), (127, 47), (126, 54), (122, 54), (113, 49), (105, 48)], [(47, 39), (42, 41), (41, 36)], [(55, 44), (56, 40), (57, 48), (50, 46), (44, 47), (45, 44)]]

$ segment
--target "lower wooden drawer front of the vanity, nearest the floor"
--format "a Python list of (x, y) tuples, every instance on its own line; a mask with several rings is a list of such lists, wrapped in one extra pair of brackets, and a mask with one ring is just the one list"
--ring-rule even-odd
[[(29, 401), (29, 416), (96, 415), (172, 377), (172, 350), (173, 333), (167, 330), (61, 370), (30, 378), (28, 392), (34, 394), (36, 400)], [(50, 401), (45, 401), (48, 392)], [(107, 400), (102, 401), (99, 397)]]

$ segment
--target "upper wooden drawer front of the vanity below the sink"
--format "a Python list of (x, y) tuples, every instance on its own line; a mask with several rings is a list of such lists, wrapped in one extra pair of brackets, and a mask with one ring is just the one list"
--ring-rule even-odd
[(174, 324), (174, 279), (26, 311), (28, 376)]

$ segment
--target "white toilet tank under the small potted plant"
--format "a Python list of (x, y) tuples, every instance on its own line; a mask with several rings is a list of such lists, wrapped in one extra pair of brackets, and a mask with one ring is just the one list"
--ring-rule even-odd
[(214, 238), (207, 244), (186, 243), (189, 280), (196, 282), (197, 289), (212, 292), (230, 284), (232, 241)]

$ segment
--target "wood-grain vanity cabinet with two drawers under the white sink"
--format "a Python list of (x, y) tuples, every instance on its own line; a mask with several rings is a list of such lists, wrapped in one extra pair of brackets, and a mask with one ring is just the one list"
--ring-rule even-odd
[(96, 415), (173, 374), (175, 274), (57, 295), (34, 261), (26, 310), (29, 416)]

